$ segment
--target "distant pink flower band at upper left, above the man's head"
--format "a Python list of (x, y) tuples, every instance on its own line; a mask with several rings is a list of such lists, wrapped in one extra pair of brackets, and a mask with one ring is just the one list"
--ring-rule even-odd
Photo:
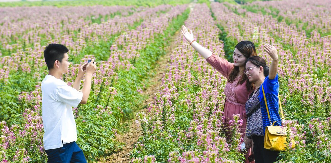
[(116, 14), (126, 16), (143, 9), (128, 6), (1, 8), (1, 13), (5, 15), (0, 21), (2, 53), (34, 48), (34, 43), (47, 43), (61, 37), (60, 34), (83, 29), (92, 24), (93, 18)]

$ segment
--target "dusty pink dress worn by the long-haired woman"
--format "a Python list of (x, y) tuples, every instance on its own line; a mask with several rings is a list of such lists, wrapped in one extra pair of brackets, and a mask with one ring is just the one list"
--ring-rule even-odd
[[(220, 58), (214, 53), (207, 59), (207, 61), (225, 78), (229, 77), (229, 74), (233, 69), (233, 63), (230, 63), (227, 60)], [(249, 92), (246, 88), (246, 81), (243, 84), (237, 86), (237, 83), (240, 81), (240, 79), (241, 76), (237, 76), (237, 78), (232, 83), (227, 82), (225, 85), (224, 93), (226, 96), (226, 101), (224, 105), (224, 116), (225, 122), (228, 123), (230, 120), (233, 119), (232, 114), (240, 115), (240, 118), (243, 120), (243, 126), (240, 129), (240, 133), (242, 133), (242, 137), (244, 137), (247, 124), (245, 103), (248, 100), (249, 94), (251, 92)], [(227, 140), (229, 139), (230, 135), (231, 133), (229, 131), (226, 132)], [(247, 151), (248, 153), (246, 154), (246, 162), (249, 163), (247, 157), (251, 155), (251, 149), (248, 149)]]

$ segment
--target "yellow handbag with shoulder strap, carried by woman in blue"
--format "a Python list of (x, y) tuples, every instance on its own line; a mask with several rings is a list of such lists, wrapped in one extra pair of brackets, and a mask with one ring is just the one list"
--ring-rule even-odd
[[(268, 109), (268, 105), (267, 105), (267, 100), (265, 98), (263, 86), (262, 86), (262, 92), (263, 92), (265, 107), (266, 107), (267, 113), (268, 113), (269, 122), (271, 125), (269, 109)], [(284, 113), (283, 113), (282, 104), (279, 99), (279, 94), (278, 94), (278, 101), (279, 101), (279, 107), (280, 107), (282, 119), (284, 120)], [(286, 141), (287, 127), (286, 126), (274, 126), (275, 122), (277, 122), (277, 121), (274, 121), (271, 126), (265, 127), (264, 148), (270, 149), (270, 150), (275, 150), (275, 151), (282, 151), (282, 150), (286, 149), (287, 144), (288, 144), (288, 142)], [(291, 131), (290, 131), (290, 134), (292, 134)], [(295, 147), (294, 140), (291, 139), (291, 142), (292, 142), (292, 148), (294, 148)]]

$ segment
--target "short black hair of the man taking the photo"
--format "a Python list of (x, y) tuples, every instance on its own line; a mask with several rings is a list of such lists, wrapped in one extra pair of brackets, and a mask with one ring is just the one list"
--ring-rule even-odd
[(61, 44), (49, 44), (44, 50), (45, 62), (48, 70), (52, 69), (55, 61), (62, 61), (64, 54), (68, 53), (69, 49)]

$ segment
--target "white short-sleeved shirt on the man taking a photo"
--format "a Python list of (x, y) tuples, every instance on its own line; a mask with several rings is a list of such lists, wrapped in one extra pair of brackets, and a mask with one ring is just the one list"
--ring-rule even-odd
[(65, 143), (77, 141), (72, 107), (80, 103), (83, 93), (52, 75), (46, 75), (41, 82), (41, 93), (45, 150), (60, 148)]

